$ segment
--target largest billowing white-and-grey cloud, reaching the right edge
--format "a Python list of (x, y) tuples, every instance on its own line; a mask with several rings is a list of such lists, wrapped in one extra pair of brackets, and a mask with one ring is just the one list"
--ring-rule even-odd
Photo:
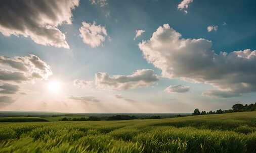
[(256, 50), (217, 54), (211, 46), (206, 39), (181, 38), (168, 24), (160, 26), (150, 40), (139, 43), (145, 59), (161, 69), (165, 78), (210, 84), (230, 95), (207, 93), (219, 97), (256, 92)]

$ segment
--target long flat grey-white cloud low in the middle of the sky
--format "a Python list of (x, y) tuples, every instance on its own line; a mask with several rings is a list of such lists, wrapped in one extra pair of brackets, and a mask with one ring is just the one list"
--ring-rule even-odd
[[(106, 72), (97, 72), (94, 85), (89, 87), (102, 90), (127, 90), (148, 87), (158, 80), (158, 76), (152, 69), (139, 69), (131, 75), (114, 75), (113, 77)], [(74, 85), (86, 88), (88, 81), (75, 80)]]

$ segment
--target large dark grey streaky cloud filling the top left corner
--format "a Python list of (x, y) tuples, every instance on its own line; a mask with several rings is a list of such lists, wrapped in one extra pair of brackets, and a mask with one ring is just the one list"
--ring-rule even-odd
[(78, 5), (79, 0), (1, 1), (0, 32), (29, 36), (41, 45), (69, 48), (58, 26), (72, 23), (72, 10)]

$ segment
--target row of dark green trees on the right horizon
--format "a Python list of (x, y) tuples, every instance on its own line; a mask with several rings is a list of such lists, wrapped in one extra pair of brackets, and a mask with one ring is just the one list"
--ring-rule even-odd
[(192, 113), (192, 115), (206, 115), (206, 114), (224, 114), (224, 113), (233, 113), (233, 112), (245, 112), (245, 111), (256, 111), (256, 103), (255, 104), (235, 104), (232, 106), (232, 109), (228, 109), (228, 110), (222, 110), (222, 109), (218, 109), (216, 111), (199, 111), (198, 108), (196, 108), (194, 110), (194, 112)]

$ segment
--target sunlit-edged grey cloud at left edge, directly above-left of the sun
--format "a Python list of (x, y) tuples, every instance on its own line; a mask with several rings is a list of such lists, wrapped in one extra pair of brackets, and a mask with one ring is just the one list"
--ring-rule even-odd
[(14, 70), (0, 68), (0, 80), (23, 82), (34, 79), (48, 79), (52, 75), (51, 67), (36, 55), (16, 56), (13, 58), (0, 56), (0, 66), (8, 65)]

